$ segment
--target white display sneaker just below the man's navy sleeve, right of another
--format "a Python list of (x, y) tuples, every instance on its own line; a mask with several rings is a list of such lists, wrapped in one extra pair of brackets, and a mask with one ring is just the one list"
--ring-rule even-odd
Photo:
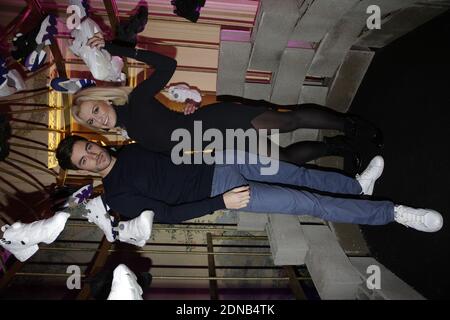
[(145, 246), (152, 234), (154, 215), (153, 211), (145, 210), (133, 220), (119, 222), (119, 225), (114, 228), (119, 233), (118, 239), (138, 247)]

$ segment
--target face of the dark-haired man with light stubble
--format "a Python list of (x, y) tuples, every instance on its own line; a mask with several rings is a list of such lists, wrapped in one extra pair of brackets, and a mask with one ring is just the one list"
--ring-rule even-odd
[(111, 155), (96, 143), (77, 141), (73, 145), (70, 160), (78, 169), (97, 173), (109, 166)]

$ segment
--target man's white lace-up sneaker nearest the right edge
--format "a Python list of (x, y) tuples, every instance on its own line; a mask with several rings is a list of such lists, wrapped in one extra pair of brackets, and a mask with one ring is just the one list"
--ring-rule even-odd
[(414, 209), (407, 206), (394, 206), (394, 219), (407, 227), (424, 232), (436, 232), (442, 228), (442, 215), (431, 209)]

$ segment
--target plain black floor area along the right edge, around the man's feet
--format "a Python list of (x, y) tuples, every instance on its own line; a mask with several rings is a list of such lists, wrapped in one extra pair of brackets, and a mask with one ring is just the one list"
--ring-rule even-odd
[[(384, 133), (385, 170), (374, 195), (444, 217), (437, 233), (397, 223), (361, 226), (376, 259), (428, 299), (450, 297), (449, 78), (447, 11), (376, 51), (349, 111)], [(359, 147), (364, 166), (380, 153), (368, 144)]]

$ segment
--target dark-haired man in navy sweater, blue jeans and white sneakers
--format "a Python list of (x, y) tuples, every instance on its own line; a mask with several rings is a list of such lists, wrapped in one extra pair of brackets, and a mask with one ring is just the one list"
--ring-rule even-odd
[[(56, 155), (63, 168), (98, 173), (103, 178), (105, 202), (128, 218), (152, 210), (154, 221), (178, 223), (227, 208), (308, 214), (356, 224), (396, 221), (425, 232), (436, 232), (443, 224), (442, 216), (434, 210), (358, 198), (361, 194), (372, 194), (384, 168), (380, 156), (372, 159), (361, 175), (350, 178), (281, 161), (276, 174), (261, 175), (267, 159), (233, 150), (216, 153), (216, 159), (227, 155), (227, 160), (233, 160), (231, 164), (217, 164), (224, 163), (222, 158), (215, 165), (175, 165), (169, 157), (139, 144), (124, 146), (116, 158), (105, 148), (76, 136), (61, 141)], [(324, 196), (279, 184), (347, 196)], [(355, 198), (349, 198), (350, 195)]]

